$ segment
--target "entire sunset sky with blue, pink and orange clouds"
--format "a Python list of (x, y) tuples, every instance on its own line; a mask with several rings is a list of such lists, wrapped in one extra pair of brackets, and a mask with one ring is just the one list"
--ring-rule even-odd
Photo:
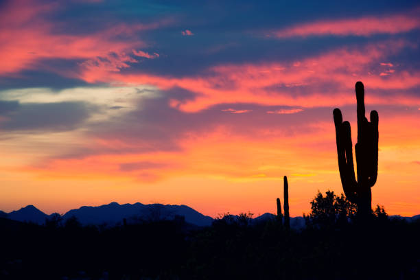
[(418, 1), (0, 1), (0, 209), (290, 214), (342, 193), (332, 111), (379, 113), (373, 205), (420, 214)]

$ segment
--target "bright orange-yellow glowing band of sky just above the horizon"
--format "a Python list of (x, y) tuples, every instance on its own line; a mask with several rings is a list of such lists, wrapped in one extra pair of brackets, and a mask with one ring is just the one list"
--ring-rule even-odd
[[(420, 209), (420, 164), (415, 162), (420, 156), (415, 140), (420, 132), (409, 128), (417, 118), (382, 115), (380, 112), (380, 171), (372, 189), (373, 205), (384, 205), (390, 214), (415, 215)], [(355, 120), (351, 124), (354, 127)], [(403, 133), (398, 141), (390, 137)], [(3, 191), (8, 202), (3, 210), (34, 204), (47, 213), (65, 213), (82, 205), (117, 201), (184, 204), (213, 217), (228, 211), (257, 215), (275, 211), (275, 198), (282, 199), (283, 175), (289, 178), (292, 215), (308, 213), (318, 190), (342, 193), (332, 121), (320, 124), (317, 132), (294, 137), (264, 140), (228, 135), (229, 131), (220, 128), (205, 137), (185, 139), (180, 152), (104, 154), (53, 159), (38, 167), (3, 166), (3, 185), (25, 186), (18, 193), (14, 188)], [(355, 136), (353, 132), (353, 142)], [(121, 170), (121, 164), (142, 162), (163, 164)]]

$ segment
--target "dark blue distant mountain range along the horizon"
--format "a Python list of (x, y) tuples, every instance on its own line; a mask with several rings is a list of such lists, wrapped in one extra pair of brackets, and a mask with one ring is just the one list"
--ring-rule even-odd
[[(51, 218), (56, 213), (47, 215), (40, 211), (34, 205), (27, 205), (17, 211), (5, 213), (0, 211), (0, 218), (8, 218), (20, 222), (34, 222), (36, 224), (44, 224), (47, 218)], [(202, 213), (188, 207), (187, 205), (161, 205), (150, 204), (143, 205), (140, 202), (134, 204), (119, 205), (117, 202), (111, 202), (108, 205), (100, 205), (97, 207), (83, 206), (79, 209), (72, 209), (62, 215), (63, 220), (71, 217), (78, 219), (83, 225), (101, 225), (108, 224), (110, 226), (122, 223), (124, 219), (128, 223), (135, 223), (139, 220), (173, 220), (176, 216), (183, 216), (185, 222), (196, 226), (209, 226), (213, 222), (213, 218), (202, 215)], [(233, 218), (237, 216), (233, 215)], [(253, 218), (251, 222), (258, 223), (274, 218), (272, 213), (264, 213), (263, 215)], [(404, 219), (408, 222), (420, 218), (420, 215), (412, 217), (401, 217), (399, 215), (391, 216), (391, 218)], [(290, 218), (290, 226), (294, 229), (302, 229), (305, 226), (303, 217)]]

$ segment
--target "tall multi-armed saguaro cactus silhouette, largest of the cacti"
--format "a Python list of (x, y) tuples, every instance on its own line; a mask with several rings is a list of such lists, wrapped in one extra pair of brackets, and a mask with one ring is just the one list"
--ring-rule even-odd
[(378, 115), (377, 111), (371, 111), (371, 122), (364, 116), (364, 86), (362, 82), (356, 82), (355, 93), (358, 102), (358, 143), (355, 144), (357, 181), (353, 167), (350, 123), (342, 121), (341, 111), (338, 108), (334, 109), (333, 115), (336, 125), (338, 169), (340, 170), (342, 189), (347, 198), (358, 205), (358, 213), (366, 216), (372, 212), (371, 187), (375, 185), (377, 178)]

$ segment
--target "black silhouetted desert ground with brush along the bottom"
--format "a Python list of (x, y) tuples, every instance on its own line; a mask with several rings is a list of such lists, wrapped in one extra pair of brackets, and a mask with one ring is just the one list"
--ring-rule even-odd
[(420, 220), (82, 227), (0, 220), (0, 279), (420, 279)]

